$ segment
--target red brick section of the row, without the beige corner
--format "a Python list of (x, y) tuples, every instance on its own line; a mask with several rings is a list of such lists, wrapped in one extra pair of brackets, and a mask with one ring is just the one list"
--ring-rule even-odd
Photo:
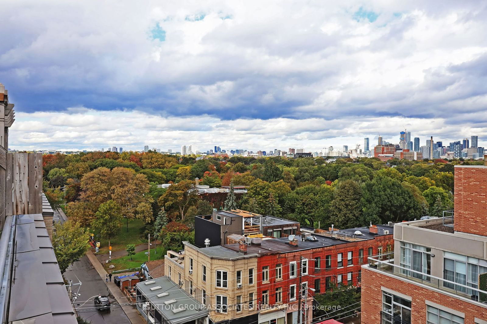
[[(313, 236), (313, 240), (299, 237), (290, 242), (279, 238), (247, 245), (247, 253), (259, 255), (259, 323), (300, 323), (300, 280), (302, 291), (306, 291), (301, 295), (301, 311), (307, 309), (302, 321), (314, 322), (314, 294), (326, 292), (331, 284), (340, 282), (360, 287), (360, 267), (368, 256), (393, 249), (393, 227), (386, 225), (306, 235)], [(239, 249), (238, 245), (226, 247)]]

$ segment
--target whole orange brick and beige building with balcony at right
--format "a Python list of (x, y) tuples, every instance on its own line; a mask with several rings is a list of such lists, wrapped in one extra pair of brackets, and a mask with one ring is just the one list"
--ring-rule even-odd
[(487, 324), (487, 166), (455, 165), (454, 206), (395, 224), (392, 259), (362, 266), (363, 324)]

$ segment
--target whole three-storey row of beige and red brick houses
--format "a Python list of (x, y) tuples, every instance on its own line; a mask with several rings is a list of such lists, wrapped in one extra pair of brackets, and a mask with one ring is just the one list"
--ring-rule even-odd
[(301, 299), (301, 321), (312, 323), (314, 294), (332, 283), (360, 287), (360, 266), (393, 249), (393, 226), (322, 232), (209, 247), (183, 242), (184, 251), (168, 251), (165, 274), (209, 309), (208, 322), (298, 324)]

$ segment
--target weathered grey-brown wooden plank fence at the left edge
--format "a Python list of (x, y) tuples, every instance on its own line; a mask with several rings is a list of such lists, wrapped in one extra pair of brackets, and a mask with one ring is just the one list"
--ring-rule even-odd
[[(42, 213), (42, 153), (8, 153), (0, 149), (0, 213)], [(3, 212), (4, 211), (4, 212)]]

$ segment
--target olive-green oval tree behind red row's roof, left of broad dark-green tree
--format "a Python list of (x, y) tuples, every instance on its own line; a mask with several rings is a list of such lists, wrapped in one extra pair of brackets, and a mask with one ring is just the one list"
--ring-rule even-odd
[(330, 222), (337, 228), (364, 226), (362, 218), (362, 189), (354, 180), (339, 181), (330, 204)]

